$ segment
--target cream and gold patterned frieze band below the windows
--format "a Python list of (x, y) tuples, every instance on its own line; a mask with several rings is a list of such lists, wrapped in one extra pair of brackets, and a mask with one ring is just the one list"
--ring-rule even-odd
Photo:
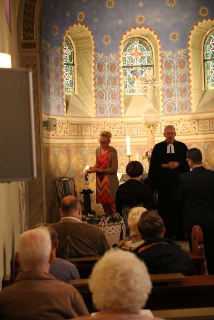
[[(43, 119), (46, 120), (48, 115), (44, 115)], [(99, 137), (100, 132), (108, 130), (112, 132), (114, 137), (123, 137), (130, 135), (133, 137), (146, 137), (147, 128), (141, 122), (140, 118), (117, 118), (116, 121), (112, 121), (112, 118), (94, 118), (88, 119), (76, 119), (56, 117), (56, 132), (48, 131), (44, 128), (44, 138), (46, 139), (90, 139)], [(194, 134), (211, 134), (214, 133), (214, 112), (210, 115), (208, 113), (203, 118), (198, 114), (188, 114), (182, 118), (161, 116), (160, 122), (157, 123), (155, 135), (162, 136), (164, 127), (168, 124), (172, 124), (175, 127), (177, 135), (194, 135)]]

